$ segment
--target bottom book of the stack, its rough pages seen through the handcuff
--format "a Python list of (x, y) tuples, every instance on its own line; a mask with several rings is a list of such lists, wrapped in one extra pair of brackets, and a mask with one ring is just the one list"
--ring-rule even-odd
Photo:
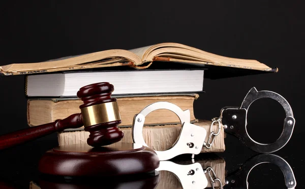
[[(146, 120), (145, 120), (146, 121)], [(198, 125), (203, 127), (206, 131), (209, 131), (211, 121), (199, 120), (199, 122), (194, 123), (194, 125)], [(218, 125), (214, 125), (214, 131), (217, 131)], [(132, 139), (132, 128), (120, 128), (121, 131), (124, 131), (124, 137), (120, 142), (133, 142)], [(146, 144), (155, 149), (155, 150), (166, 150), (170, 148), (176, 141), (179, 136), (179, 132), (181, 130), (181, 125), (162, 125), (162, 126), (144, 126), (142, 135)], [(76, 143), (86, 143), (87, 138), (89, 136), (89, 132), (86, 131), (73, 131), (73, 132), (62, 132), (58, 133), (58, 143), (59, 145), (68, 145), (68, 144), (76, 144)], [(205, 140), (209, 133), (207, 133)], [(218, 136), (215, 137), (215, 142), (211, 148), (202, 147), (201, 152), (224, 152), (225, 150), (225, 133), (222, 127), (221, 132)]]

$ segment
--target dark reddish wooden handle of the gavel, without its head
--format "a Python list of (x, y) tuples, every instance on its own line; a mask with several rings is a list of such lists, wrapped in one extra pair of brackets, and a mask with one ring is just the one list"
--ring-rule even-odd
[(63, 120), (56, 120), (52, 123), (8, 133), (0, 136), (0, 150), (40, 138), (54, 132), (61, 132), (65, 129), (71, 128), (79, 128), (81, 126), (83, 126), (81, 114), (73, 114)]

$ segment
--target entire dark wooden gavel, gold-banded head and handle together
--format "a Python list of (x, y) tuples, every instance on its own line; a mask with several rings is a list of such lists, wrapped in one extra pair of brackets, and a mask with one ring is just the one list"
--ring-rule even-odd
[(91, 146), (103, 146), (118, 142), (124, 133), (117, 128), (121, 123), (115, 98), (111, 98), (113, 85), (104, 82), (87, 85), (77, 92), (84, 104), (80, 105), (80, 114), (66, 119), (23, 129), (0, 136), (0, 149), (8, 148), (65, 129), (79, 128), (90, 132), (87, 143)]

